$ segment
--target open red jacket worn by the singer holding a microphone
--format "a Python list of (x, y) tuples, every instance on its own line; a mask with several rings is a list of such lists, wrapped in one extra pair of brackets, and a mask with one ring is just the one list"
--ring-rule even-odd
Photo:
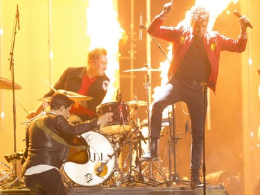
[[(148, 33), (154, 37), (162, 38), (168, 42), (172, 42), (173, 59), (168, 69), (168, 80), (175, 74), (177, 68), (180, 66), (182, 58), (191, 46), (193, 41), (192, 28), (181, 27), (167, 27), (161, 26), (164, 20), (159, 18), (159, 15), (153, 19), (153, 22), (148, 28)], [(216, 82), (218, 78), (218, 65), (220, 59), (220, 51), (227, 50), (241, 53), (245, 51), (247, 38), (239, 36), (238, 40), (233, 40), (218, 32), (207, 32), (204, 37), (204, 45), (207, 51), (207, 56), (211, 64), (211, 74), (209, 80), (206, 80), (207, 86), (215, 92)]]

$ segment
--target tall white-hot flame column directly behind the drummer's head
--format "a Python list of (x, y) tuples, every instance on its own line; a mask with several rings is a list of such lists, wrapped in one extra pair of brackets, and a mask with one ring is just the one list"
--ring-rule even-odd
[(103, 103), (112, 101), (115, 97), (116, 71), (119, 69), (119, 40), (123, 29), (117, 20), (118, 12), (116, 0), (89, 0), (87, 8), (87, 35), (89, 35), (89, 50), (103, 47), (107, 50), (108, 65), (106, 74), (110, 78), (110, 85)]

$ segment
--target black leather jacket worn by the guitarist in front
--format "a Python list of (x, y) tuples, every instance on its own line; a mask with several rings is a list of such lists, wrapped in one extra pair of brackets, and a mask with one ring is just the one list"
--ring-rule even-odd
[[(60, 169), (69, 152), (69, 146), (60, 144), (37, 126), (35, 121), (38, 119), (40, 117), (31, 121), (31, 124), (26, 128), (25, 153), (28, 151), (28, 156), (23, 164), (23, 172), (38, 164), (49, 164)], [(96, 128), (97, 119), (72, 125), (62, 115), (47, 114), (44, 117), (44, 124), (68, 144), (71, 144), (77, 135)]]

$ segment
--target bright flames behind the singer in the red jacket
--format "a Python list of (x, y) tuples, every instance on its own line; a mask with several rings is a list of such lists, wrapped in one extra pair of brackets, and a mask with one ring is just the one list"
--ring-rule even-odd
[[(216, 0), (197, 0), (195, 2), (195, 6), (203, 6), (207, 10), (209, 10), (210, 18), (209, 18), (209, 24), (208, 24), (207, 31), (212, 31), (218, 15), (220, 15), (227, 8), (227, 6), (230, 3), (233, 2), (234, 4), (236, 4), (238, 1), (239, 0), (229, 0), (229, 1), (227, 1), (227, 0), (218, 0), (218, 1), (216, 1)], [(173, 6), (174, 6), (174, 4), (173, 4)], [(189, 10), (186, 12), (185, 18), (177, 26), (190, 26), (190, 22), (191, 22), (191, 11)], [(168, 49), (167, 57), (168, 57), (168, 59), (171, 59), (172, 58), (171, 44), (168, 46), (167, 49)], [(169, 66), (170, 66), (170, 64), (168, 61), (160, 62), (160, 67), (161, 67), (160, 69), (162, 69), (162, 73), (160, 75), (162, 78), (161, 86), (155, 87), (153, 99), (157, 99), (157, 97), (159, 97), (160, 94), (162, 94), (162, 86), (166, 85), (166, 83), (168, 82), (167, 72), (168, 72)], [(208, 109), (210, 109), (210, 105), (208, 105)], [(169, 107), (168, 110), (166, 110), (166, 109), (164, 110), (163, 117), (167, 117), (169, 111), (171, 111), (171, 106)]]

